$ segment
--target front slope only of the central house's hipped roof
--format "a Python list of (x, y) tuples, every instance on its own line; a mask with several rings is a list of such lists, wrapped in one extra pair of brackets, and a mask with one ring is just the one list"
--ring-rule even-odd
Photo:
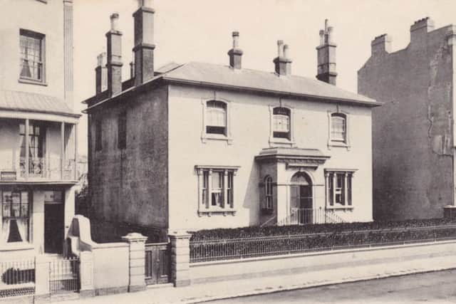
[(191, 62), (162, 75), (167, 80), (184, 80), (192, 83), (214, 84), (239, 89), (303, 95), (310, 98), (328, 98), (358, 103), (378, 103), (366, 96), (351, 93), (321, 80), (296, 75), (278, 76), (276, 73), (242, 68), (235, 70), (228, 65)]

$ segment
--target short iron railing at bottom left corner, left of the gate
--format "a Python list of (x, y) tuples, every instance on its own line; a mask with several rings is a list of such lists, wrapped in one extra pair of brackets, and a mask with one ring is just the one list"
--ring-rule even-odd
[(0, 262), (0, 298), (35, 293), (35, 261), (23, 259)]

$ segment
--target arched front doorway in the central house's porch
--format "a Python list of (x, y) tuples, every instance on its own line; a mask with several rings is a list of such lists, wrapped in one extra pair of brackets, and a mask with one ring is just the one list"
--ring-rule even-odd
[(306, 172), (296, 172), (291, 177), (291, 222), (312, 224), (314, 220), (312, 181)]

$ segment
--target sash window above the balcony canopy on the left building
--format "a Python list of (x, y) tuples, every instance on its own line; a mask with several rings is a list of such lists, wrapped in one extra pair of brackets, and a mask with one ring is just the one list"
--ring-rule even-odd
[(21, 29), (21, 79), (44, 82), (44, 35)]

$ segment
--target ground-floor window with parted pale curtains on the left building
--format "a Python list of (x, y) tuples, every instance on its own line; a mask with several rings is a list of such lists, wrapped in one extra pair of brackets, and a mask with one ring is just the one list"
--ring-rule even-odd
[(30, 199), (26, 191), (1, 192), (1, 238), (4, 243), (28, 241)]

